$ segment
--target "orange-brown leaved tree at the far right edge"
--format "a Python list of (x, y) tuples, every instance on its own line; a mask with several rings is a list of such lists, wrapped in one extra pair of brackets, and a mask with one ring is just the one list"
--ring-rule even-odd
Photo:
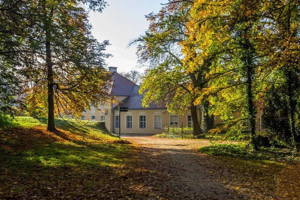
[[(300, 149), (300, 127), (298, 126), (300, 114), (299, 102), (299, 2), (294, 0), (271, 0), (265, 3), (268, 13), (266, 48), (269, 51), (269, 59), (266, 63), (272, 70), (269, 74), (269, 91), (280, 91), (277, 95), (283, 98), (284, 105), (279, 110), (285, 109), (288, 114), (289, 132), (297, 150)], [(269, 96), (269, 98), (276, 98)], [(265, 110), (271, 111), (270, 104)], [(287, 109), (286, 109), (287, 108)], [(278, 113), (277, 112), (277, 113)], [(269, 112), (268, 112), (269, 113)], [(281, 117), (286, 117), (286, 112), (281, 112)], [(274, 116), (276, 118), (278, 116)], [(287, 131), (285, 131), (287, 132)], [(278, 133), (279, 134), (279, 133)], [(286, 134), (288, 135), (288, 133)]]

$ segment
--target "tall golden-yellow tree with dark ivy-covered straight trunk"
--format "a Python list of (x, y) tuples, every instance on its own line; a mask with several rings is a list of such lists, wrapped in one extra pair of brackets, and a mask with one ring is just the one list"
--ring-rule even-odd
[(190, 37), (184, 43), (191, 70), (208, 68), (203, 81), (207, 87), (195, 91), (202, 93), (197, 100), (206, 96), (210, 113), (223, 119), (232, 119), (231, 113), (240, 110), (248, 119), (254, 148), (260, 5), (259, 0), (196, 0), (188, 22)]

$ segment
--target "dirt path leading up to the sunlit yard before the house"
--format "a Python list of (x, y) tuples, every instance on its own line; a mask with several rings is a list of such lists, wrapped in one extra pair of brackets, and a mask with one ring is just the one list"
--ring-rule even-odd
[(123, 138), (139, 145), (141, 151), (147, 151), (146, 154), (156, 159), (161, 168), (167, 170), (172, 176), (170, 181), (176, 185), (173, 188), (174, 192), (183, 189), (185, 193), (183, 197), (185, 196), (186, 199), (243, 198), (226, 188), (221, 182), (215, 181), (213, 176), (202, 167), (203, 163), (199, 164), (199, 161), (207, 160), (201, 160), (196, 149), (209, 145), (208, 140), (169, 139), (153, 136), (124, 136)]

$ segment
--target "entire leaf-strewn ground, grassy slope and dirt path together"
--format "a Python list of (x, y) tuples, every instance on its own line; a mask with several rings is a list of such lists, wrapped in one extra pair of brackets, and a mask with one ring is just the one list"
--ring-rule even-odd
[[(90, 122), (0, 130), (0, 199), (299, 199), (299, 165), (199, 153), (207, 140), (127, 137)], [(80, 122), (69, 121), (73, 125)]]

